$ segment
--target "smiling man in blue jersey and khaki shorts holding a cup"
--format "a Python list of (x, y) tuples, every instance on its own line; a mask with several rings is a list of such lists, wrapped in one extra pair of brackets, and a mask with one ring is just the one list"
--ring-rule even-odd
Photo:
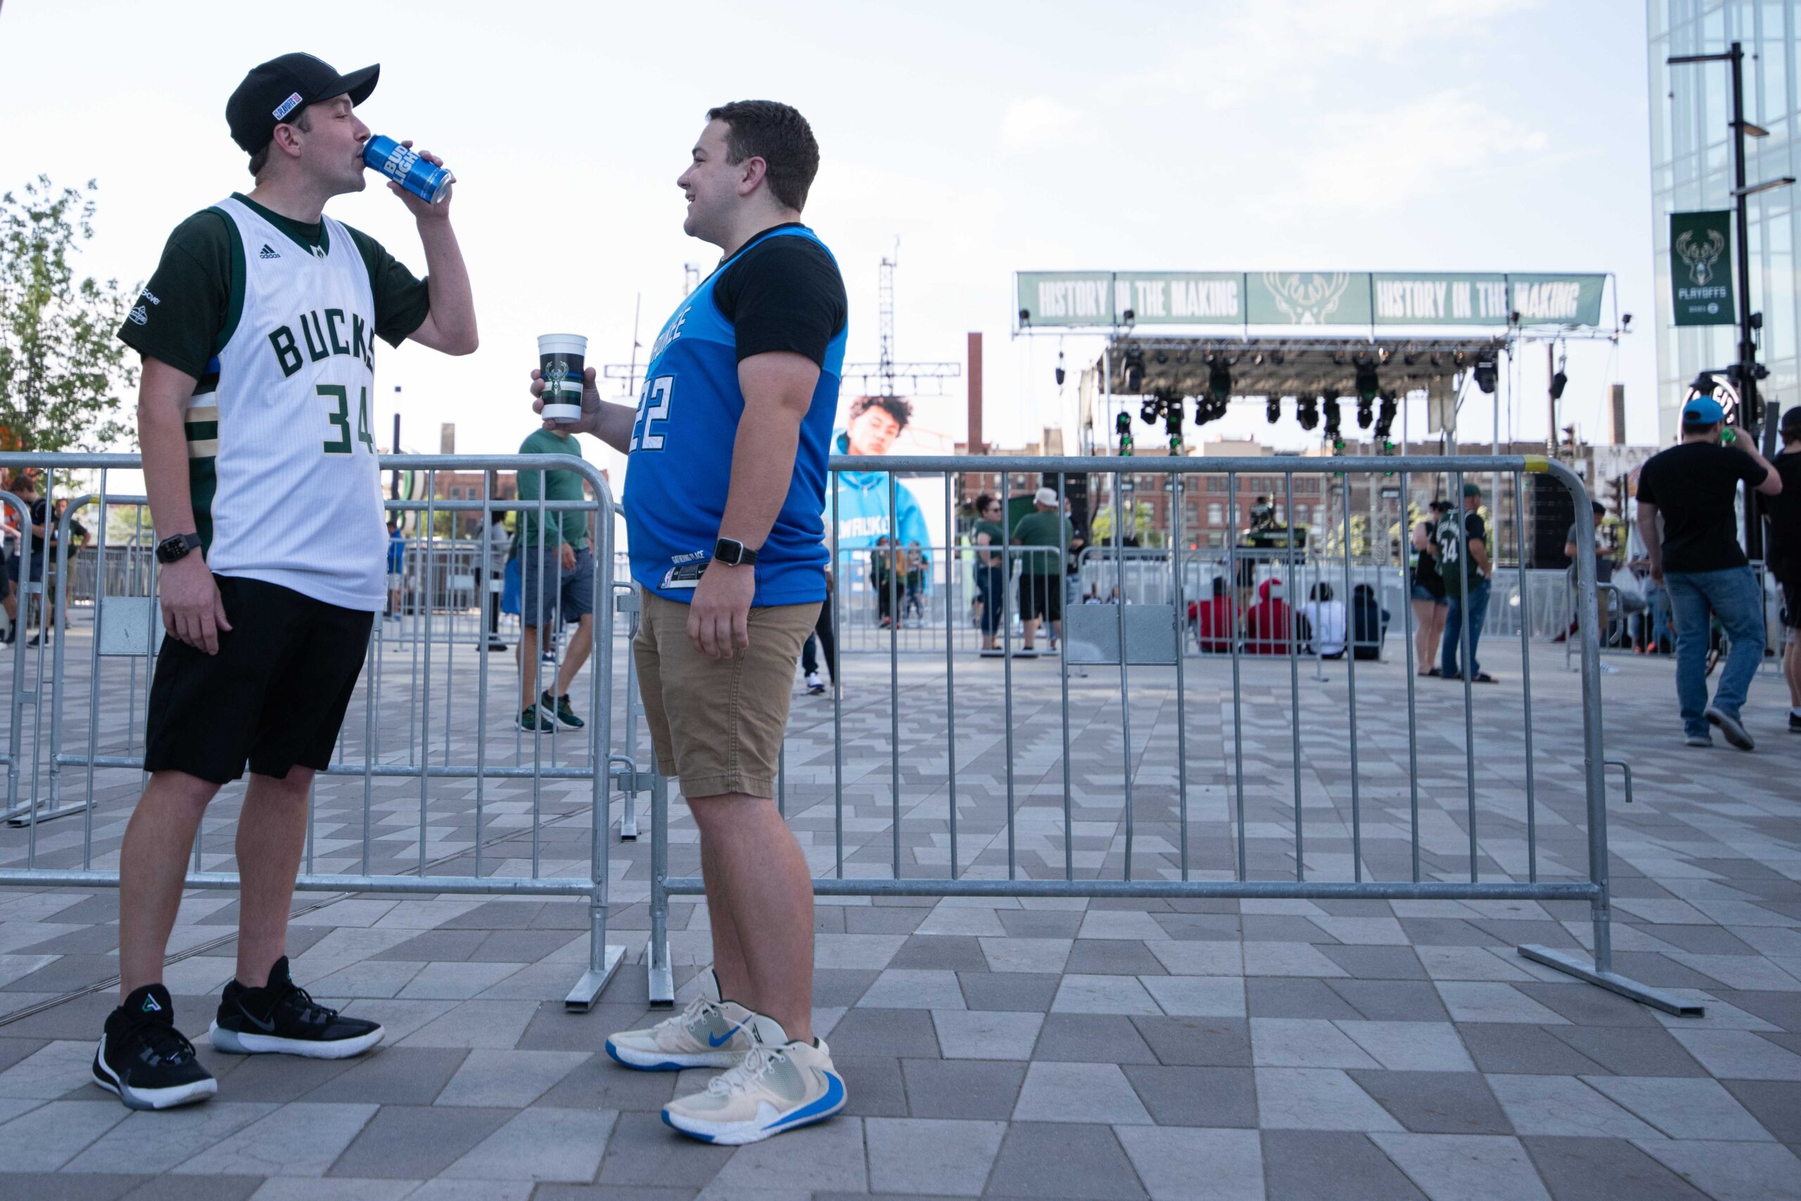
[(848, 303), (832, 254), (800, 223), (819, 167), (807, 121), (773, 101), (706, 117), (675, 184), (683, 230), (724, 257), (665, 322), (636, 411), (602, 402), (591, 367), (573, 429), (630, 456), (632, 655), (657, 771), (679, 778), (701, 828), (713, 935), (701, 994), (614, 1034), (607, 1053), (652, 1071), (729, 1068), (663, 1120), (735, 1145), (845, 1107), (812, 1037), (812, 879), (771, 798), (794, 661), (825, 600)]

